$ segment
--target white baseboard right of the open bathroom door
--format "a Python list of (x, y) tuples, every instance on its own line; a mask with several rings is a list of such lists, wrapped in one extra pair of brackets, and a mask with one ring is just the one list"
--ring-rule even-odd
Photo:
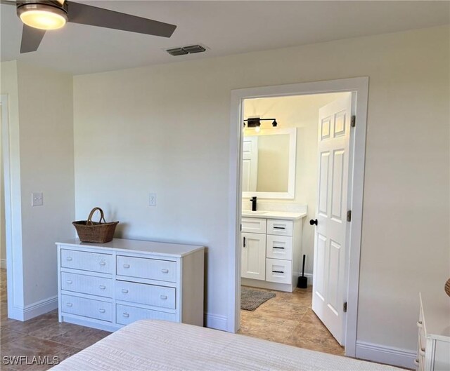
[(356, 358), (414, 369), (417, 353), (408, 349), (356, 341)]

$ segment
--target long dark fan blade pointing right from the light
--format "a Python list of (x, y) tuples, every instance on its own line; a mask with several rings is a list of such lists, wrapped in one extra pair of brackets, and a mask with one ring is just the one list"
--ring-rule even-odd
[(169, 25), (169, 23), (149, 20), (136, 15), (119, 13), (72, 1), (67, 1), (67, 4), (69, 22), (72, 23), (164, 37), (172, 36), (176, 29), (176, 25)]

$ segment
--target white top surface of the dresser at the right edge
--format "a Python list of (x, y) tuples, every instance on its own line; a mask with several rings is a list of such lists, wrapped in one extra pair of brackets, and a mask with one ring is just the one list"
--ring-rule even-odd
[(427, 336), (450, 342), (450, 297), (441, 291), (420, 292), (420, 306)]

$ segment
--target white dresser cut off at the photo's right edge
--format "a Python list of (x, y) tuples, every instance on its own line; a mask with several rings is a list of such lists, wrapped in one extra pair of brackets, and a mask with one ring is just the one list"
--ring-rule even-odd
[(450, 297), (420, 292), (416, 367), (419, 371), (450, 370)]

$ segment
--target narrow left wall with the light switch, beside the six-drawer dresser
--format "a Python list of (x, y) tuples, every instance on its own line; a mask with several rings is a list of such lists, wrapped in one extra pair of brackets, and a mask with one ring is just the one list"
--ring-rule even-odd
[[(22, 310), (28, 318), (56, 308), (55, 242), (74, 236), (72, 76), (22, 62), (16, 66), (15, 77), (11, 70), (8, 74), (16, 79), (18, 94), (3, 85), (1, 93), (18, 106), (18, 119), (10, 120), (20, 148), (22, 256), (15, 264), (23, 267)], [(43, 206), (31, 206), (32, 191), (44, 193)]]

